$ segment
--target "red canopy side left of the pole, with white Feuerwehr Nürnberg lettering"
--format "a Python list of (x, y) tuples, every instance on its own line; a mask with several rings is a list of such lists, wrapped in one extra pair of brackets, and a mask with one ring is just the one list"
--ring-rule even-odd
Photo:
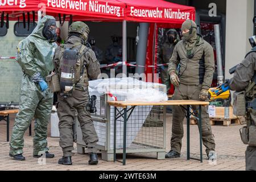
[[(40, 11), (39, 11), (40, 10)], [(1, 0), (0, 13), (9, 15), (10, 20), (18, 19), (23, 13), (35, 11), (59, 17), (73, 15), (74, 20), (112, 20), (125, 19), (125, 3), (115, 0)], [(60, 14), (60, 16), (59, 16)], [(27, 18), (27, 14), (26, 14)], [(6, 19), (6, 17), (5, 17)], [(37, 18), (36, 18), (37, 19)]]

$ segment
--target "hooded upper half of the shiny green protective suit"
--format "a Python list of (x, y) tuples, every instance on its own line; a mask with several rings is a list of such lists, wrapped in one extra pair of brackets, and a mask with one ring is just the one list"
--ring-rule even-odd
[(54, 19), (53, 16), (44, 16), (34, 31), (18, 45), (16, 60), (28, 76), (27, 81), (32, 81), (30, 77), (36, 73), (44, 79), (54, 69), (53, 56), (57, 44), (49, 42), (42, 32), (44, 23), (50, 19)]

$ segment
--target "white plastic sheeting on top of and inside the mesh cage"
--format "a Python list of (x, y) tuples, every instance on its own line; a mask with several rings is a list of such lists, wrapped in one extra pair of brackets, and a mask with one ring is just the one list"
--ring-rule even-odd
[[(97, 99), (103, 94), (111, 93), (117, 97), (117, 101), (148, 101), (158, 102), (167, 101), (166, 85), (152, 82), (139, 81), (135, 78), (108, 78), (104, 80), (89, 81), (90, 96), (96, 95)], [(128, 106), (127, 109), (130, 107)], [(129, 147), (133, 142), (139, 130), (150, 113), (152, 106), (137, 106), (133, 110), (127, 121), (127, 139), (126, 146)], [(97, 106), (97, 110), (100, 107)], [(141, 114), (138, 114), (141, 113)], [(142, 114), (143, 113), (143, 114)], [(96, 121), (94, 121), (95, 124)], [(105, 143), (105, 131), (107, 130), (104, 123), (97, 123), (96, 132), (99, 137), (98, 143)], [(103, 136), (103, 137), (102, 137)], [(114, 107), (110, 107), (110, 148), (114, 146)], [(123, 118), (117, 121), (117, 148), (123, 147)]]

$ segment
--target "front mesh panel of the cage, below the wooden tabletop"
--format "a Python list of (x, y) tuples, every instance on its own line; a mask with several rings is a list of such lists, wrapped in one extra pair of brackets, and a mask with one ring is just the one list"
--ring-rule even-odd
[[(121, 110), (122, 108), (118, 108)], [(127, 110), (131, 109), (127, 107)], [(160, 110), (162, 109), (162, 110)], [(163, 138), (163, 107), (158, 106), (137, 106), (130, 112), (130, 118), (127, 121), (127, 150), (136, 152), (154, 151), (156, 148), (165, 148)], [(114, 125), (112, 125), (114, 127)], [(123, 147), (123, 118), (117, 119), (117, 148)], [(112, 146), (113, 141), (110, 141)], [(122, 151), (120, 151), (122, 152)]]

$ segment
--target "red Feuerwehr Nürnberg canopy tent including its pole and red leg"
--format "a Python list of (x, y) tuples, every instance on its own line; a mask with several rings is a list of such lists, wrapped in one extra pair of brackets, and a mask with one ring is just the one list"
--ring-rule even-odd
[[(186, 19), (195, 20), (195, 7), (178, 5), (163, 0), (0, 0), (0, 12), (10, 20), (24, 12), (38, 11), (56, 19), (101, 20), (123, 22), (123, 73), (126, 73), (126, 21), (149, 22), (147, 64), (155, 64), (157, 27), (180, 27)], [(26, 13), (26, 17), (31, 14)], [(72, 16), (71, 16), (72, 15)], [(153, 23), (154, 22), (154, 23)], [(153, 60), (153, 61), (152, 61)], [(147, 73), (154, 69), (146, 69)]]

